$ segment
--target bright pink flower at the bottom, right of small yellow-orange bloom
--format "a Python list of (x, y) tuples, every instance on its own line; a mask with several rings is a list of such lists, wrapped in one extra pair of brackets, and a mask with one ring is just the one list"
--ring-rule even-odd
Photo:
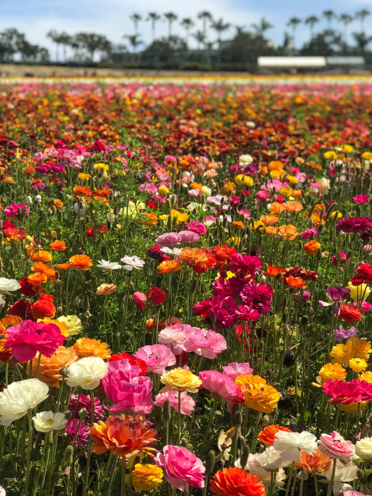
[(191, 451), (182, 446), (167, 444), (154, 458), (154, 463), (166, 471), (165, 480), (180, 491), (188, 487), (203, 488), (205, 467)]

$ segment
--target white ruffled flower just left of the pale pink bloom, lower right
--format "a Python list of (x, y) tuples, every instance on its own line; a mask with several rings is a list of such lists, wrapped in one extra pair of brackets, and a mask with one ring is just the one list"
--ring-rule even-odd
[(279, 431), (275, 434), (274, 449), (281, 451), (280, 456), (290, 461), (300, 460), (300, 451), (315, 453), (317, 444), (316, 437), (307, 431), (302, 433), (288, 433)]

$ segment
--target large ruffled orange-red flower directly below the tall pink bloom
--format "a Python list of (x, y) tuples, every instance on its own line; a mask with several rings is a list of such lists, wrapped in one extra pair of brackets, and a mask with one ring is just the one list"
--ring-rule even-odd
[(144, 453), (150, 458), (156, 454), (157, 432), (153, 424), (145, 417), (136, 415), (111, 415), (108, 419), (93, 424), (89, 430), (95, 441), (91, 450), (97, 455), (114, 450), (126, 466), (126, 460), (137, 453)]

